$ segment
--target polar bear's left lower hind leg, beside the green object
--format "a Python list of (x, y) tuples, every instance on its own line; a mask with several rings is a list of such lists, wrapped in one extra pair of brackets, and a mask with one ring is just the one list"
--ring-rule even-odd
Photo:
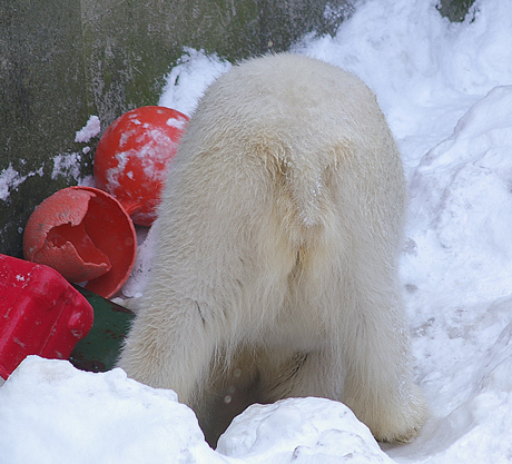
[(138, 382), (173, 388), (183, 403), (200, 402), (218, 334), (205, 327), (196, 302), (175, 298), (173, 290), (163, 306), (149, 296), (144, 303), (118, 366)]

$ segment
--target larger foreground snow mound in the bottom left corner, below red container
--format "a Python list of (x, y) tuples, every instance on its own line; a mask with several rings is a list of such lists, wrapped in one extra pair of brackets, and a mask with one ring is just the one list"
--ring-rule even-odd
[(2, 464), (223, 462), (174, 392), (121, 369), (29, 357), (0, 389), (0, 417)]

